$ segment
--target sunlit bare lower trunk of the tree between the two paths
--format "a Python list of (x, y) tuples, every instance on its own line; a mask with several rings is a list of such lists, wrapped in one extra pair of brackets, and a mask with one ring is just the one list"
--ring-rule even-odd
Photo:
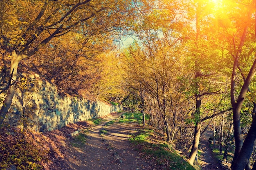
[(194, 133), (194, 139), (193, 139), (193, 146), (191, 153), (189, 155), (188, 161), (191, 165), (193, 165), (195, 161), (195, 157), (198, 152), (198, 145), (199, 145), (199, 140), (200, 140), (200, 131), (201, 131), (201, 122), (198, 122), (195, 126), (195, 133)]

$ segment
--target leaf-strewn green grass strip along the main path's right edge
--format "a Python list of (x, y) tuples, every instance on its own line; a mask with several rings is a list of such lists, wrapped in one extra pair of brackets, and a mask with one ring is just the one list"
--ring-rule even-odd
[(171, 145), (164, 142), (162, 134), (148, 128), (140, 130), (136, 135), (130, 137), (129, 141), (138, 150), (145, 154), (151, 161), (163, 169), (169, 170), (195, 170), (183, 157), (171, 149)]

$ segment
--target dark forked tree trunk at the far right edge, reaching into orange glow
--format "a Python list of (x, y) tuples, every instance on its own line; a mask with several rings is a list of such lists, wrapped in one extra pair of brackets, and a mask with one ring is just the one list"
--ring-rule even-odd
[[(254, 11), (254, 7), (255, 7), (254, 2), (250, 2), (250, 1), (245, 2), (245, 6), (243, 7), (243, 10), (245, 10), (245, 9), (246, 10), (245, 10), (244, 16), (242, 17), (244, 20), (243, 22), (245, 22), (245, 23), (241, 23), (239, 20), (238, 21), (236, 20), (236, 24), (244, 24), (244, 27), (243, 27), (243, 31), (240, 32), (240, 36), (241, 36), (240, 42), (239, 42), (238, 46), (235, 46), (235, 44), (234, 44), (235, 51), (232, 54), (234, 57), (234, 65), (233, 65), (232, 78), (231, 78), (231, 104), (233, 107), (234, 138), (235, 138), (235, 144), (236, 144), (235, 154), (234, 154), (234, 158), (233, 158), (232, 166), (231, 166), (232, 169), (244, 169), (246, 164), (248, 163), (249, 157), (252, 153), (251, 152), (248, 157), (248, 152), (247, 152), (247, 156), (246, 156), (247, 161), (245, 161), (245, 159), (246, 159), (245, 156), (243, 157), (244, 159), (242, 161), (241, 155), (243, 155), (244, 151), (240, 152), (242, 149), (242, 146), (243, 146), (243, 135), (241, 133), (240, 114), (241, 114), (243, 102), (245, 100), (245, 97), (246, 97), (246, 94), (247, 94), (247, 91), (249, 88), (249, 84), (251, 83), (251, 81), (254, 78), (255, 73), (256, 73), (256, 60), (254, 60), (254, 63), (252, 65), (249, 73), (247, 74), (247, 77), (245, 79), (245, 82), (243, 83), (242, 88), (240, 89), (238, 97), (235, 96), (236, 95), (235, 88), (236, 88), (237, 70), (239, 68), (239, 61), (240, 61), (240, 57), (243, 54), (242, 50), (243, 50), (243, 46), (245, 44), (246, 37), (247, 37), (248, 31), (249, 31), (248, 29), (249, 29), (250, 25), (252, 24), (252, 13)], [(242, 7), (240, 7), (240, 8), (242, 8)], [(239, 26), (241, 26), (241, 25), (239, 25)], [(254, 124), (252, 124), (252, 126), (254, 126)], [(249, 135), (249, 137), (247, 136), (247, 140), (246, 140), (247, 142), (252, 142), (251, 135), (253, 135), (253, 132), (251, 131), (250, 133), (251, 134)], [(254, 140), (252, 143), (254, 143)], [(247, 145), (244, 147), (249, 147), (252, 149), (252, 147), (250, 147), (250, 146), (251, 145)], [(238, 160), (238, 155), (241, 156), (239, 160)], [(239, 164), (239, 166), (238, 166), (238, 164)]]

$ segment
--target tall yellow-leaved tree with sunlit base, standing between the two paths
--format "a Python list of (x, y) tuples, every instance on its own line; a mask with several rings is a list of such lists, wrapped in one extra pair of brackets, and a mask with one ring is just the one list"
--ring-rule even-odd
[[(219, 56), (221, 56), (222, 51), (218, 50), (217, 46), (211, 43), (211, 39), (216, 39), (216, 33), (209, 29), (210, 26), (213, 26), (214, 20), (213, 11), (211, 10), (212, 5), (211, 2), (195, 0), (193, 2), (186, 2), (182, 8), (183, 11), (188, 13), (187, 16), (184, 16), (184, 21), (195, 20), (193, 24), (185, 25), (183, 29), (183, 35), (186, 35), (188, 39), (186, 46), (184, 46), (187, 50), (187, 59), (185, 57), (183, 59), (184, 63), (191, 70), (189, 73), (191, 76), (188, 80), (189, 86), (185, 93), (195, 98), (195, 110), (191, 114), (191, 121), (195, 125), (194, 139), (188, 158), (191, 164), (193, 164), (197, 155), (202, 121), (207, 120), (210, 116), (210, 113), (204, 113), (206, 110), (203, 109), (203, 101), (207, 99), (207, 96), (218, 94), (222, 91), (223, 86), (216, 82), (223, 82), (225, 78), (220, 72), (221, 67), (223, 67), (222, 60), (224, 60), (225, 56), (220, 58)], [(204, 22), (205, 20), (208, 22)], [(188, 35), (186, 31), (189, 29)], [(212, 63), (211, 61), (215, 62)], [(214, 103), (217, 104), (217, 101), (219, 100), (216, 100)]]

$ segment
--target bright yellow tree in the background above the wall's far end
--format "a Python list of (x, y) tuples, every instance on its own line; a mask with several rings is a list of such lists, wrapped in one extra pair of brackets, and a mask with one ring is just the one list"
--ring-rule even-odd
[(118, 51), (107, 50), (96, 58), (101, 61), (100, 71), (98, 70), (100, 78), (92, 87), (91, 94), (104, 100), (121, 102), (128, 94), (128, 85), (126, 82), (127, 73)]

